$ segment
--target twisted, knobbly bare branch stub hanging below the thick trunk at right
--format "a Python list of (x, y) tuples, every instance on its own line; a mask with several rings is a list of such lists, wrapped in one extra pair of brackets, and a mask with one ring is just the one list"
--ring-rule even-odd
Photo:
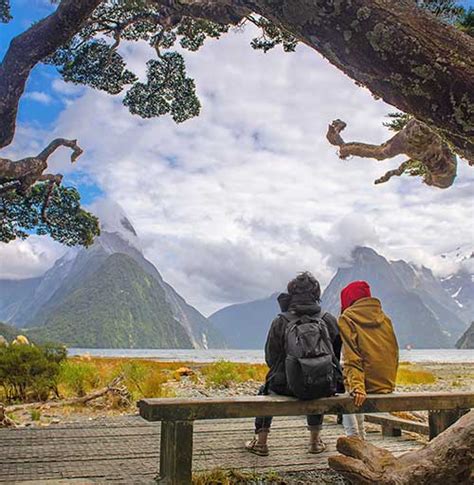
[(339, 147), (339, 157), (342, 159), (349, 156), (376, 160), (386, 160), (397, 155), (410, 157), (410, 160), (403, 162), (398, 169), (390, 170), (377, 179), (377, 184), (386, 182), (394, 175), (410, 173), (414, 166), (417, 166), (417, 170), (414, 170), (412, 175), (421, 175), (427, 185), (445, 189), (450, 187), (456, 178), (456, 155), (434, 130), (421, 121), (410, 120), (401, 131), (381, 145), (346, 143), (340, 135), (345, 127), (344, 121), (334, 120), (326, 134), (329, 143)]

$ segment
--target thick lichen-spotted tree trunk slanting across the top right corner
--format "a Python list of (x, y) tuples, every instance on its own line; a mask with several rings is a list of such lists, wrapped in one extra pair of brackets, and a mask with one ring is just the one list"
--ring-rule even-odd
[[(474, 39), (413, 0), (244, 0), (474, 163)], [(318, 93), (315, 93), (317, 96)]]

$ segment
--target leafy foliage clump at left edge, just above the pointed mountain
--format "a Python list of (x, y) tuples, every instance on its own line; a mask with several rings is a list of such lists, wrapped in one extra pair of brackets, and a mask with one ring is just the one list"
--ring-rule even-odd
[(74, 188), (54, 186), (43, 217), (44, 201), (50, 190), (47, 183), (34, 185), (26, 194), (10, 191), (0, 196), (0, 241), (26, 239), (32, 233), (49, 234), (67, 246), (92, 244), (99, 235), (97, 217), (80, 206), (80, 195)]

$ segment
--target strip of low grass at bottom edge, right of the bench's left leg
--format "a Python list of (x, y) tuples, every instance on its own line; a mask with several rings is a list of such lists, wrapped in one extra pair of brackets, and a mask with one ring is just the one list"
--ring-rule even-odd
[(266, 485), (284, 484), (283, 479), (274, 471), (267, 473), (242, 472), (238, 470), (214, 470), (193, 473), (193, 485)]

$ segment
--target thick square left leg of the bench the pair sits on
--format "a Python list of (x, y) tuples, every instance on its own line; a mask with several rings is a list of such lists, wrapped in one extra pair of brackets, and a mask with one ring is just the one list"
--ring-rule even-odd
[(190, 485), (193, 465), (193, 421), (162, 421), (159, 483)]

